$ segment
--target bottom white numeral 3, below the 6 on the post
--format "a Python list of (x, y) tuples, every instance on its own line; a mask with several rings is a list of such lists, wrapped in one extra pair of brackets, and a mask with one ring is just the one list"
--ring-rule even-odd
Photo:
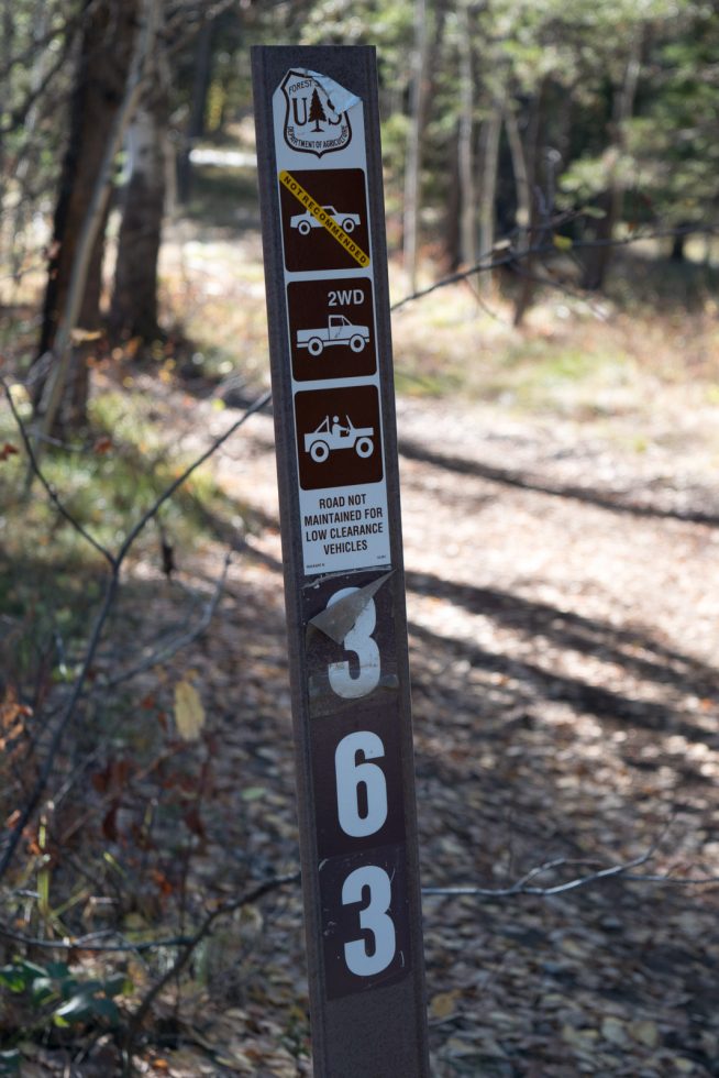
[(344, 959), (351, 972), (357, 977), (373, 977), (387, 969), (395, 957), (395, 925), (387, 910), (391, 903), (391, 883), (383, 868), (365, 865), (350, 872), (342, 886), (342, 904), (362, 902), (364, 890), (369, 891), (369, 902), (360, 911), (360, 927), (374, 937), (372, 954), (365, 939), (353, 939), (344, 945)]

